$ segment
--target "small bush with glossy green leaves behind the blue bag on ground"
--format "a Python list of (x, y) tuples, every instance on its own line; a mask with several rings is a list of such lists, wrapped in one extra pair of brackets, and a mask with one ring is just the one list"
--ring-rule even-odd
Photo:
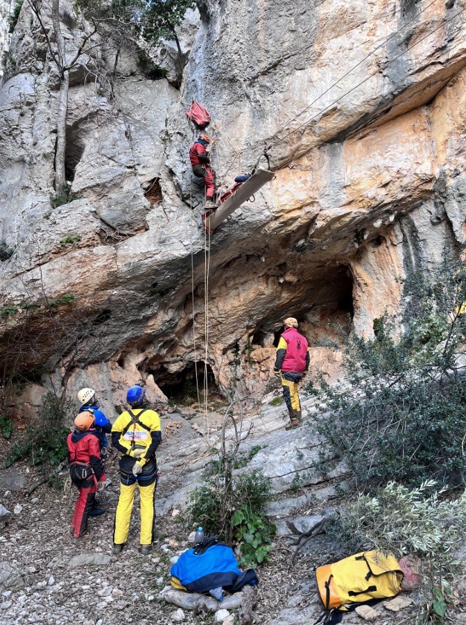
[(241, 544), (241, 564), (266, 562), (275, 534), (265, 514), (270, 480), (261, 471), (245, 471), (225, 487), (223, 465), (216, 467), (217, 472), (189, 495), (189, 521), (202, 525), (206, 533), (221, 535), (228, 544)]

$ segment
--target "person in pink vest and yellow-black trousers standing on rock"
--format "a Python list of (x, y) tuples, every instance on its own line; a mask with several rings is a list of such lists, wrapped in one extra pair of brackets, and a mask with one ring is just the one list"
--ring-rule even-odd
[(282, 382), (290, 423), (286, 430), (301, 424), (301, 403), (297, 394), (297, 385), (309, 369), (309, 351), (307, 339), (297, 331), (297, 320), (288, 317), (283, 322), (285, 331), (280, 337), (275, 358), (275, 375)]

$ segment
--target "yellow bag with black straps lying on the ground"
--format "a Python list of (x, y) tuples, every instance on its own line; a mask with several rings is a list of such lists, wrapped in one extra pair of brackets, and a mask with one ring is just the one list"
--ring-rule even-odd
[(395, 597), (402, 590), (403, 572), (395, 556), (363, 551), (335, 564), (318, 567), (317, 587), (326, 610), (344, 603)]

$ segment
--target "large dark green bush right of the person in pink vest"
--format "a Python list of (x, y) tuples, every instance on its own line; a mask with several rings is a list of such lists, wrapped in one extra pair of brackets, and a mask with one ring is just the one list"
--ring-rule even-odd
[(346, 383), (330, 387), (322, 379), (320, 390), (308, 387), (335, 415), (318, 430), (365, 489), (388, 480), (464, 480), (466, 386), (456, 371), (466, 334), (461, 271), (444, 263), (429, 278), (411, 276), (402, 313), (375, 319), (374, 338), (343, 339)]

